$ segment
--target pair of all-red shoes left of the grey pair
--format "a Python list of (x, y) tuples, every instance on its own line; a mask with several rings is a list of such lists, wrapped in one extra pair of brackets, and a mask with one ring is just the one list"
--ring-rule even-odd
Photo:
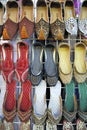
[(17, 79), (24, 82), (28, 76), (28, 45), (24, 42), (17, 43), (17, 61), (14, 65), (13, 46), (10, 43), (2, 44), (2, 75), (6, 82), (11, 82), (16, 72)]

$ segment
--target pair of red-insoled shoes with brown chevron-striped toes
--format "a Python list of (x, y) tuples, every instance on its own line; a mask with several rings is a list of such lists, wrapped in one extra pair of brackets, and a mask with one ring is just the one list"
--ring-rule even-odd
[[(28, 121), (32, 112), (31, 82), (22, 83), (22, 90), (16, 103), (16, 81), (6, 84), (6, 92), (3, 102), (3, 113), (6, 121), (13, 121), (16, 114), (21, 121)], [(16, 108), (17, 107), (17, 108)]]

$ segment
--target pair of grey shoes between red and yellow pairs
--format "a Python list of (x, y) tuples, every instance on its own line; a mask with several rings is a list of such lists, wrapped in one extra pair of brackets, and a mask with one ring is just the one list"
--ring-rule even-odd
[[(36, 43), (32, 47), (32, 62), (31, 62), (31, 82), (33, 85), (38, 85), (45, 70), (46, 80), (50, 86), (57, 83), (58, 72), (56, 63), (56, 49), (52, 44), (45, 47), (41, 43)], [(37, 57), (36, 57), (37, 55)], [(43, 56), (45, 63), (43, 64)]]

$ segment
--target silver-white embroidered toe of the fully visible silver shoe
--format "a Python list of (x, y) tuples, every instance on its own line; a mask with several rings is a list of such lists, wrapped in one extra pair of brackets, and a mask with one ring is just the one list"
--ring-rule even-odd
[(73, 17), (65, 21), (66, 31), (71, 35), (77, 35), (77, 20)]

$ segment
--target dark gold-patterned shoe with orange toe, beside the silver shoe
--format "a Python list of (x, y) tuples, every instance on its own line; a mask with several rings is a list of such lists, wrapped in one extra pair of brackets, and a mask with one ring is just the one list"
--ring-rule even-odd
[(50, 4), (50, 28), (52, 36), (55, 40), (64, 39), (64, 21), (62, 16), (62, 7), (59, 2), (52, 1)]

